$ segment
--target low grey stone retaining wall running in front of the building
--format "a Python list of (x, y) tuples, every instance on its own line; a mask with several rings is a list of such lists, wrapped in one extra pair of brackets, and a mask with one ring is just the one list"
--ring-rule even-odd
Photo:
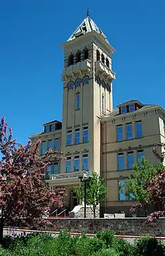
[(53, 224), (51, 230), (57, 232), (67, 229), (69, 232), (94, 234), (98, 230), (112, 230), (116, 235), (165, 236), (165, 218), (155, 219), (150, 223), (147, 222), (147, 218), (49, 218), (48, 220)]

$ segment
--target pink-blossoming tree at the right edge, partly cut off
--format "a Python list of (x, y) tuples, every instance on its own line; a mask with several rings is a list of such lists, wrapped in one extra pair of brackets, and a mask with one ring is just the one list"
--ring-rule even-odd
[[(158, 170), (154, 177), (147, 181), (144, 188), (149, 192), (149, 198), (147, 198), (146, 203), (151, 204), (156, 209), (148, 216), (149, 222), (152, 222), (153, 218), (165, 215), (165, 167), (164, 157), (165, 157), (165, 144), (159, 143), (157, 146), (162, 147), (162, 153), (159, 154), (156, 148), (152, 149), (154, 155), (159, 159)], [(141, 208), (141, 202), (133, 205), (131, 210), (135, 212), (137, 208)]]

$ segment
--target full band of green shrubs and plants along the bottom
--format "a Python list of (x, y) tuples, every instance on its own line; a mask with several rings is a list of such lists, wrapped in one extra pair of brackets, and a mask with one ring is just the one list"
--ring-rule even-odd
[(154, 238), (143, 238), (131, 245), (110, 231), (98, 232), (94, 237), (85, 234), (69, 235), (63, 231), (57, 237), (33, 233), (26, 236), (5, 237), (1, 256), (163, 256), (164, 245)]

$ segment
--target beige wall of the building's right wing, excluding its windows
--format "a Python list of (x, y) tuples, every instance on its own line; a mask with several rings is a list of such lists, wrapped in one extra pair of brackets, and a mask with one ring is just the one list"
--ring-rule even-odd
[[(143, 149), (144, 155), (149, 163), (155, 164), (158, 159), (154, 157), (152, 148), (156, 148), (161, 153), (161, 148), (156, 147), (158, 142), (164, 142), (164, 122), (160, 118), (161, 112), (158, 108), (149, 108), (145, 111), (138, 110), (135, 114), (122, 114), (109, 118), (107, 122), (102, 123), (102, 176), (107, 179), (108, 196), (107, 207), (129, 206), (132, 204), (129, 200), (119, 201), (119, 181), (126, 179), (132, 171), (127, 169), (127, 151), (133, 151), (134, 161), (137, 163), (137, 150)], [(143, 138), (135, 138), (135, 122), (141, 120), (143, 126)], [(126, 140), (126, 124), (133, 124), (133, 139)], [(116, 127), (123, 125), (124, 140), (117, 142)], [(105, 132), (106, 131), (106, 132)], [(125, 169), (117, 170), (117, 153), (124, 153)], [(105, 206), (105, 203), (103, 204)]]

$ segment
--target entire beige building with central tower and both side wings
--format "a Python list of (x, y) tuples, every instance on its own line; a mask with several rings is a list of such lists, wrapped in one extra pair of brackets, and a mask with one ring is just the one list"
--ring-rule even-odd
[(53, 148), (67, 157), (64, 163), (48, 167), (46, 182), (50, 187), (66, 187), (65, 207), (71, 211), (79, 204), (73, 192), (73, 186), (80, 183), (79, 175), (96, 171), (108, 187), (101, 213), (129, 212), (133, 202), (119, 191), (119, 183), (125, 186), (133, 163), (143, 155), (156, 163), (152, 148), (157, 142), (165, 142), (165, 111), (159, 105), (138, 100), (113, 108), (115, 50), (90, 17), (82, 21), (62, 48), (62, 122), (48, 122), (43, 132), (30, 136), (32, 142), (42, 140), (41, 154)]

